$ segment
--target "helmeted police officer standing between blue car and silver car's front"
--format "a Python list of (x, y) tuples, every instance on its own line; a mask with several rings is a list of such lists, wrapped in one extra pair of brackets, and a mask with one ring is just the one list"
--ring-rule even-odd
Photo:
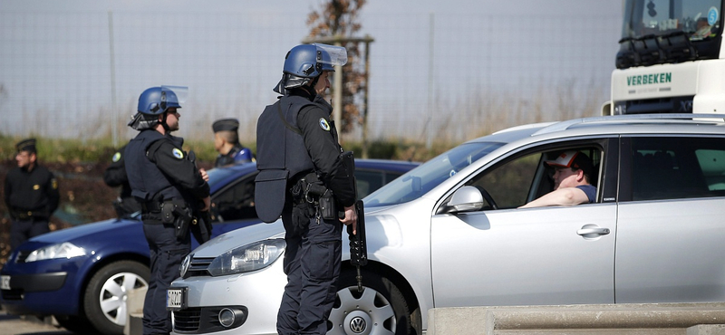
[[(143, 232), (150, 247), (151, 278), (143, 304), (143, 334), (169, 334), (171, 316), (166, 291), (179, 277), (189, 254), (192, 206), (207, 211), (209, 186), (189, 155), (179, 129), (179, 87), (152, 87), (139, 97), (139, 112), (129, 126), (140, 133), (126, 147), (131, 195), (141, 204)], [(208, 178), (208, 177), (207, 177)], [(201, 204), (201, 205), (198, 205)]]

